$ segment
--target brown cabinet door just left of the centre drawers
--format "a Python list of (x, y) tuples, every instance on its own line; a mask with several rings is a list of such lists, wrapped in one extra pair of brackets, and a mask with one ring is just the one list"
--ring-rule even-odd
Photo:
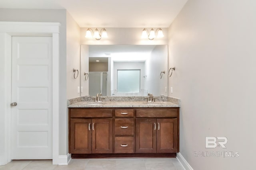
[(113, 152), (113, 119), (92, 119), (92, 153)]

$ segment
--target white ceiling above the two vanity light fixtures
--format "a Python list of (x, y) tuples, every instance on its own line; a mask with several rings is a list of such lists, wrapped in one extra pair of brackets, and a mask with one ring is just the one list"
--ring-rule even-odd
[(169, 27), (187, 0), (0, 0), (0, 8), (66, 9), (80, 27)]

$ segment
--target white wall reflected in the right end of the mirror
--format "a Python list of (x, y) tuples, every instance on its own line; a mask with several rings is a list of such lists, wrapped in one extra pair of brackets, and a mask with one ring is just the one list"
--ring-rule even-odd
[[(156, 45), (152, 50), (150, 57), (145, 62), (145, 88), (148, 89), (149, 93), (154, 96), (166, 95), (167, 90), (167, 80), (168, 80), (168, 46), (167, 45)], [(162, 79), (160, 79), (160, 73), (162, 74)], [(157, 80), (157, 82), (156, 82)]]

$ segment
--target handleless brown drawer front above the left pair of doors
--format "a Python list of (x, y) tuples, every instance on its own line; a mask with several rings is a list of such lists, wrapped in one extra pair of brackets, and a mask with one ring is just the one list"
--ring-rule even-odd
[(112, 109), (70, 109), (70, 117), (112, 117)]

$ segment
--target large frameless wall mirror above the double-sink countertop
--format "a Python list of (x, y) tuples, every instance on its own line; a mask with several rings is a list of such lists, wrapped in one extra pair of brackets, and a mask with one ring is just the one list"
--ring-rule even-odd
[(167, 96), (167, 71), (167, 45), (81, 45), (81, 96)]

